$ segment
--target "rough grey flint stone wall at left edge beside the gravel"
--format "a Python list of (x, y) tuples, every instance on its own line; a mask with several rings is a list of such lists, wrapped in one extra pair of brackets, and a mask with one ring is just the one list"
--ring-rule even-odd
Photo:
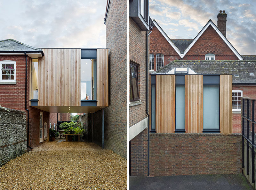
[(0, 106), (0, 166), (26, 150), (26, 113)]

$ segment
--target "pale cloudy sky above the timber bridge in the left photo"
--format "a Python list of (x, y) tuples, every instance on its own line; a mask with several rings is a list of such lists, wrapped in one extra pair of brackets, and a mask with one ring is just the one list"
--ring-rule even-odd
[(105, 48), (106, 0), (0, 0), (0, 40), (37, 48)]

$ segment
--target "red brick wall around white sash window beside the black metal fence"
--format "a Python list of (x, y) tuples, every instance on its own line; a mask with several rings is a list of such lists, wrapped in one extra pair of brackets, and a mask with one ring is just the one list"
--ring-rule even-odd
[[(256, 99), (256, 86), (238, 86), (233, 85), (232, 90), (243, 91), (243, 97)], [(232, 114), (232, 132), (241, 133), (241, 114)]]

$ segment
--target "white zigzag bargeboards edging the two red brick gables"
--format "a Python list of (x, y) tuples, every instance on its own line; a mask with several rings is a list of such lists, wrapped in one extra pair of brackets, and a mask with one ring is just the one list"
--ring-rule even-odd
[[(236, 51), (236, 49), (231, 45), (231, 43), (225, 38), (225, 36), (220, 32), (218, 27), (212, 22), (210, 19), (206, 25), (202, 28), (202, 30), (196, 35), (194, 40), (189, 44), (189, 46), (182, 52), (180, 49), (177, 48), (177, 46), (174, 44), (174, 42), (167, 36), (167, 34), (164, 32), (164, 30), (157, 24), (156, 20), (153, 20), (156, 28), (162, 33), (164, 38), (170, 43), (170, 45), (174, 48), (174, 50), (180, 55), (181, 58), (183, 58), (189, 51), (189, 49), (192, 48), (192, 46), (196, 43), (196, 41), (200, 38), (200, 36), (204, 33), (204, 31), (211, 25), (212, 28), (216, 31), (217, 34), (219, 34), (220, 38), (227, 44), (227, 46), (231, 49), (231, 51), (236, 55), (236, 57), (239, 60), (243, 60), (241, 55)], [(183, 47), (184, 48), (184, 47)]]

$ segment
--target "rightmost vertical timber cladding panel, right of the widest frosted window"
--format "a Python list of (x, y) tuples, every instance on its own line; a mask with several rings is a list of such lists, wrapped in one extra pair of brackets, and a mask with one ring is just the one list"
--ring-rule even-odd
[(220, 75), (220, 133), (232, 133), (232, 75)]

